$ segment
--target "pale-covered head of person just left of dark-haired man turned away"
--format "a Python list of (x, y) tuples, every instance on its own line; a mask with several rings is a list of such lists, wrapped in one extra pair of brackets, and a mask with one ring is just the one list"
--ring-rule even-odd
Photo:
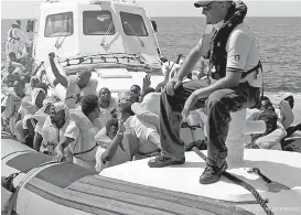
[(50, 103), (46, 105), (45, 114), (50, 116), (51, 122), (57, 128), (62, 128), (66, 122), (66, 117), (69, 115), (67, 106), (62, 103)]

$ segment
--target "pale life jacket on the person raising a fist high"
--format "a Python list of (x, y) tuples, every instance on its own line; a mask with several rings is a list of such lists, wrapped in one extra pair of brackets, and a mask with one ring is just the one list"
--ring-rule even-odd
[(66, 98), (65, 104), (69, 109), (76, 108), (80, 101), (83, 96), (95, 94), (98, 82), (96, 79), (90, 79), (86, 87), (84, 87), (78, 95), (75, 95), (75, 89), (78, 83), (77, 76), (71, 76), (68, 79), (68, 86), (66, 89)]

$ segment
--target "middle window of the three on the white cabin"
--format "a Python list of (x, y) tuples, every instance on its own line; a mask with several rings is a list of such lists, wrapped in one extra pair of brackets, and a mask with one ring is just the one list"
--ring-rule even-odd
[(116, 33), (110, 11), (84, 11), (85, 35), (114, 35)]

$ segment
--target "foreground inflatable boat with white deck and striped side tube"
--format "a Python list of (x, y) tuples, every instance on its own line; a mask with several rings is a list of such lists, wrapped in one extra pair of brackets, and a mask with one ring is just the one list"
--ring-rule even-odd
[[(255, 196), (227, 175), (211, 185), (200, 184), (205, 162), (194, 152), (186, 152), (183, 165), (150, 169), (144, 159), (97, 174), (73, 163), (51, 162), (51, 157), (6, 138), (1, 175), (15, 176), (15, 191), (2, 184), (2, 214), (266, 214)], [(249, 168), (258, 168), (272, 182), (249, 173)], [(254, 187), (267, 201), (269, 214), (300, 214), (300, 153), (248, 149), (243, 166), (227, 172)]]

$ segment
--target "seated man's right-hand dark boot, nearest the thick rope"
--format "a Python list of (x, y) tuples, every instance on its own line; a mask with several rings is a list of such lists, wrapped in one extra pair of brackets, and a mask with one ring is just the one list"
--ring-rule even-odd
[(201, 184), (212, 184), (217, 182), (221, 179), (222, 173), (227, 170), (227, 162), (224, 161), (222, 165), (206, 165), (203, 174), (200, 176)]

